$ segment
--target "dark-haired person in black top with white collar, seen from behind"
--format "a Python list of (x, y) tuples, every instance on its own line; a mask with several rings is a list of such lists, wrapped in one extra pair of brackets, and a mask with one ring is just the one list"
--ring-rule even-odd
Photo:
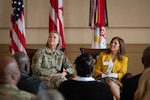
[(77, 76), (62, 82), (58, 88), (66, 100), (113, 100), (110, 87), (92, 77), (94, 60), (91, 55), (80, 55), (75, 64)]

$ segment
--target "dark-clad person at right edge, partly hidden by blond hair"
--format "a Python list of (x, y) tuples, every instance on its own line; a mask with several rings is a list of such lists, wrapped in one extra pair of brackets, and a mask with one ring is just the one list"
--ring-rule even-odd
[[(142, 63), (144, 70), (150, 68), (150, 47), (143, 51)], [(138, 87), (138, 81), (142, 73), (139, 73), (123, 82), (121, 100), (133, 100), (134, 93)]]

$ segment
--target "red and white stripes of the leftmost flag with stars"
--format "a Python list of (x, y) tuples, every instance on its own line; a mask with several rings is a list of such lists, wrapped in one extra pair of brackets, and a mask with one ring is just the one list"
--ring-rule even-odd
[(12, 11), (9, 51), (11, 55), (17, 51), (23, 51), (26, 53), (24, 10), (21, 13), (21, 17), (15, 23), (13, 23)]

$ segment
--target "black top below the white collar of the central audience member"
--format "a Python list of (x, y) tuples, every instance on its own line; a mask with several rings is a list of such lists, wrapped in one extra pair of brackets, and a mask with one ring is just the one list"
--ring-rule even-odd
[(66, 100), (113, 100), (110, 87), (98, 81), (68, 80), (58, 90)]

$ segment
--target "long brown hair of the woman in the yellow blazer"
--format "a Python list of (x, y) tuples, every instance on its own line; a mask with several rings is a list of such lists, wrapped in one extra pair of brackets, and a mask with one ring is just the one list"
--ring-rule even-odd
[[(120, 37), (114, 37), (112, 38), (112, 40), (110, 41), (110, 48), (112, 46), (112, 43), (115, 43), (117, 40), (117, 42), (119, 43), (119, 50), (118, 50), (118, 59), (122, 60), (122, 55), (125, 55), (125, 42), (122, 38)], [(111, 50), (112, 51), (112, 50)]]

